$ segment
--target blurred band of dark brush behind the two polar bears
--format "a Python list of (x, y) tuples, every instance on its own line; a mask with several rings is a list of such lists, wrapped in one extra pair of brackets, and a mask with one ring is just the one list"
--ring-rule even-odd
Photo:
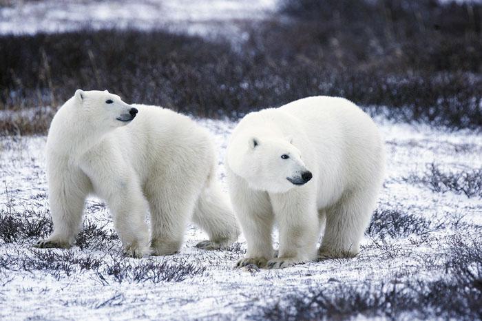
[(3, 35), (0, 109), (54, 108), (0, 131), (45, 134), (77, 88), (211, 118), (344, 96), (397, 121), (480, 130), (481, 15), (480, 3), (284, 0), (236, 45), (164, 31)]

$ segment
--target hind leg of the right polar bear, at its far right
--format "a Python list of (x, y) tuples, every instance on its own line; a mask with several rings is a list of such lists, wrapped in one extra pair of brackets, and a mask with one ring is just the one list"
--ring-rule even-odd
[(359, 242), (370, 222), (376, 198), (359, 191), (342, 198), (326, 210), (326, 227), (319, 247), (320, 259), (350, 258), (359, 252)]

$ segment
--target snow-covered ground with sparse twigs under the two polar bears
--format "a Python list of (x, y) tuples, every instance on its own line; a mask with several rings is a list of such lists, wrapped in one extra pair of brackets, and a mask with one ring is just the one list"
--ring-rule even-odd
[[(223, 158), (235, 124), (198, 122), (216, 139), (218, 176), (226, 189)], [(390, 223), (395, 224), (396, 219), (390, 216), (393, 221), (386, 221), (388, 216), (380, 214), (379, 222), (367, 232), (359, 256), (275, 271), (233, 268), (246, 250), (242, 237), (227, 251), (197, 249), (196, 242), (206, 236), (192, 225), (185, 232), (179, 254), (123, 258), (109, 211), (95, 199), (87, 203), (84, 231), (93, 232), (82, 234), (87, 239), (82, 248), (32, 249), (38, 235), (45, 234), (45, 218), (49, 217), (45, 136), (1, 138), (0, 221), (6, 225), (6, 218), (11, 217), (41, 222), (39, 229), (43, 230), (35, 233), (31, 228), (30, 236), (12, 232), (12, 242), (0, 238), (0, 319), (260, 318), (262, 307), (284, 302), (289, 293), (306, 292), (308, 296), (313, 289), (329, 290), (340, 284), (390, 282), (396, 282), (397, 291), (402, 292), (413, 280), (446, 279), (451, 242), (460, 237), (480, 240), (481, 195), (468, 198), (453, 191), (434, 192), (421, 183), (408, 183), (406, 178), (423, 176), (431, 163), (442, 172), (482, 168), (482, 136), (382, 119), (377, 123), (386, 138), (388, 155), (388, 175), (378, 212), (395, 211), (398, 219), (410, 217), (414, 223), (394, 229)], [(0, 235), (6, 238), (5, 232)], [(169, 269), (187, 271), (186, 276), (183, 280), (156, 280), (155, 276), (164, 276)], [(406, 315), (407, 320), (412, 318), (415, 315)]]

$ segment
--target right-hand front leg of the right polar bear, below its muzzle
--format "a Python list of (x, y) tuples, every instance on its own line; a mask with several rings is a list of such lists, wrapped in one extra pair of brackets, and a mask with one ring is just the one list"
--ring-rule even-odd
[(280, 247), (277, 258), (266, 263), (268, 269), (282, 269), (316, 257), (318, 212), (314, 196), (310, 194), (304, 187), (270, 194), (280, 231)]

